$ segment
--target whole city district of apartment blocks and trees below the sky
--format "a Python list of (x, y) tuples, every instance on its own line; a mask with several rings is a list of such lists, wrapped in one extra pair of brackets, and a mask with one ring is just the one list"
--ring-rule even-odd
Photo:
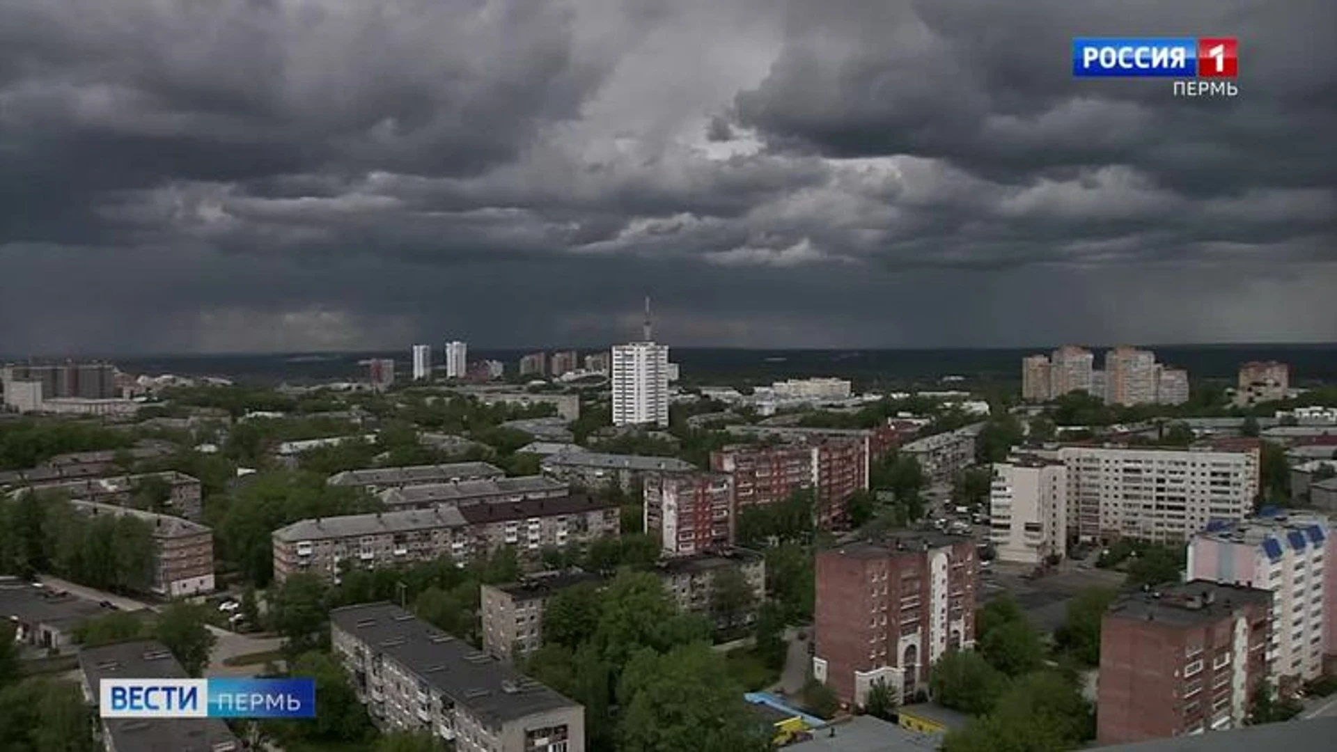
[[(7, 365), (0, 748), (1332, 748), (1337, 389), (1285, 364), (707, 384), (648, 317), (406, 355)], [(95, 707), (195, 676), (313, 677), (317, 717)]]

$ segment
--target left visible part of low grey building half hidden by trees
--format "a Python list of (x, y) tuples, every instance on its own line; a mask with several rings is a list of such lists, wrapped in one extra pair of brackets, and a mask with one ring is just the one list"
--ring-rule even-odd
[(541, 571), (520, 582), (483, 585), (479, 616), (483, 649), (503, 661), (528, 657), (543, 646), (543, 614), (558, 594), (578, 585), (603, 586), (607, 578), (580, 570)]

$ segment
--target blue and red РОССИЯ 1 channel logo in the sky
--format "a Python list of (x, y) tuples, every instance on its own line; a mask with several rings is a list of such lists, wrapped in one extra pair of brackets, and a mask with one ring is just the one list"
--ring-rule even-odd
[(1075, 37), (1076, 78), (1234, 79), (1235, 37)]

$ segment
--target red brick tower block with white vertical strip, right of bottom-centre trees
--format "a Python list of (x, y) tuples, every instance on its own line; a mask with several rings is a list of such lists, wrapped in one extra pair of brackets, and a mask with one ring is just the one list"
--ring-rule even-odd
[(813, 674), (862, 705), (874, 681), (902, 698), (948, 650), (975, 644), (979, 562), (964, 535), (897, 531), (817, 554)]

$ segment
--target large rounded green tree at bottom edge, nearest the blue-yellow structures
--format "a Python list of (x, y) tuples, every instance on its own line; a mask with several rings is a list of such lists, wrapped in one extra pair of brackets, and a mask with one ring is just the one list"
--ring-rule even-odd
[(763, 752), (770, 739), (705, 645), (636, 653), (618, 688), (624, 698), (618, 748), (627, 752), (729, 749)]

